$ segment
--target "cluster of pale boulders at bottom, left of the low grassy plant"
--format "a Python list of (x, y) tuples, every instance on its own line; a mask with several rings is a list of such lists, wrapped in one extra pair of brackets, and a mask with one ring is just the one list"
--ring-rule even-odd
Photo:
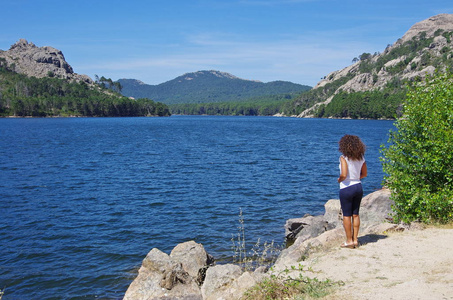
[(214, 265), (203, 245), (189, 241), (170, 255), (152, 249), (124, 299), (235, 300), (265, 276), (262, 269), (243, 272), (238, 265)]

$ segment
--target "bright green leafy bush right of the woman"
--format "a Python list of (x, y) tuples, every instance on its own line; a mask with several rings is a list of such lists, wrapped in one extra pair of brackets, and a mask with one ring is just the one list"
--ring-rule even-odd
[(453, 74), (411, 87), (396, 129), (381, 158), (396, 221), (451, 222)]

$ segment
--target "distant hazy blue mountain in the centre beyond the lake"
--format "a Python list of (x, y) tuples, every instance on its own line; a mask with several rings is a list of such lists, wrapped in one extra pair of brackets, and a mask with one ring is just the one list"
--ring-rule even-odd
[(237, 102), (260, 96), (297, 94), (311, 89), (310, 86), (287, 81), (263, 83), (244, 80), (214, 70), (186, 73), (158, 85), (148, 85), (135, 79), (118, 81), (125, 96), (149, 98), (166, 104)]

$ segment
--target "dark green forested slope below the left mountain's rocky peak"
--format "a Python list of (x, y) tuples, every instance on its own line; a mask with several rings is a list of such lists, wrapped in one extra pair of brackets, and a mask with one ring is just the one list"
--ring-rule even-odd
[(133, 100), (96, 84), (16, 73), (0, 58), (0, 116), (168, 116), (165, 104)]

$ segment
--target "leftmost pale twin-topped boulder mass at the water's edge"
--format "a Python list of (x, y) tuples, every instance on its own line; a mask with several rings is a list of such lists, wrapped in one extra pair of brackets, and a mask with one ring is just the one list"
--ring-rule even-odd
[(200, 273), (212, 263), (212, 256), (194, 241), (177, 245), (170, 255), (154, 248), (143, 260), (124, 299), (201, 300), (199, 285), (204, 276)]

